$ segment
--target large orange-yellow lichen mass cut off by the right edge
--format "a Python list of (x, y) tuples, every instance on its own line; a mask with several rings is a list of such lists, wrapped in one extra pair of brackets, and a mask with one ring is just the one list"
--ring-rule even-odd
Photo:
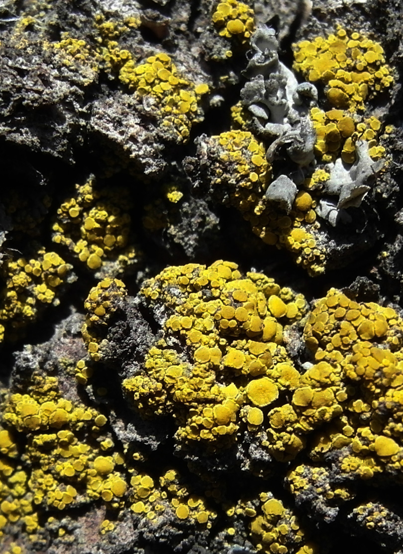
[(402, 329), (403, 320), (391, 307), (357, 302), (336, 289), (316, 303), (305, 342), (319, 363), (301, 379), (310, 390), (297, 389), (293, 398), (296, 410), (307, 405), (299, 425), (313, 424), (314, 403), (314, 419), (332, 420), (313, 441), (315, 461), (329, 450), (344, 449), (341, 473), (371, 479), (382, 471), (401, 472)]

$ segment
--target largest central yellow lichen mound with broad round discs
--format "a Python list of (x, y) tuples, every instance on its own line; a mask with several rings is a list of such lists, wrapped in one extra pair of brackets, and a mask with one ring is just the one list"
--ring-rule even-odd
[[(123, 389), (142, 416), (170, 414), (179, 442), (228, 447), (241, 420), (263, 424), (260, 408), (278, 398), (279, 388), (297, 386), (282, 342), (283, 327), (305, 313), (302, 295), (263, 274), (243, 278), (222, 260), (166, 268), (141, 293), (171, 315), (144, 371), (125, 379)], [(169, 347), (171, 337), (186, 343), (188, 361)]]

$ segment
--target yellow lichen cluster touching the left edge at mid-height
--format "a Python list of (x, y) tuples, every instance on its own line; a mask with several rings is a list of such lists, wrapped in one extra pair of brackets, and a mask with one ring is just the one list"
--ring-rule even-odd
[(19, 258), (3, 263), (6, 285), (0, 301), (0, 342), (4, 335), (16, 340), (18, 332), (47, 304), (58, 305), (58, 294), (68, 282), (72, 266), (55, 252), (38, 249), (32, 259)]

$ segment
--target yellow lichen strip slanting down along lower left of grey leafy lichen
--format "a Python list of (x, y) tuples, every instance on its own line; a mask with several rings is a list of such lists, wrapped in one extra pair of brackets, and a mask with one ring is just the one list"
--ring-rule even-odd
[(322, 273), (325, 250), (315, 239), (319, 223), (309, 192), (297, 195), (289, 213), (269, 201), (271, 166), (263, 145), (248, 131), (223, 132), (211, 137), (208, 147), (215, 160), (210, 167), (213, 197), (237, 208), (264, 243), (287, 249), (310, 273)]

